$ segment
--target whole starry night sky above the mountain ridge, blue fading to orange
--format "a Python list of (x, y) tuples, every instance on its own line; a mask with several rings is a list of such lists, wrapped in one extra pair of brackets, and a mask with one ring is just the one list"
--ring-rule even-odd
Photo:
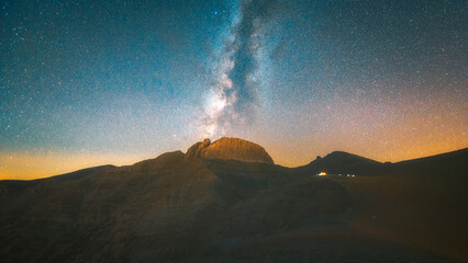
[(468, 147), (465, 0), (0, 3), (0, 179), (205, 137), (287, 167)]

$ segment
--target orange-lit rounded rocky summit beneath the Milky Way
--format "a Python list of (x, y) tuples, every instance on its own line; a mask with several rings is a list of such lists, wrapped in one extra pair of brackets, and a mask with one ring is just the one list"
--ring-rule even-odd
[(187, 150), (186, 160), (198, 158), (274, 163), (271, 157), (261, 146), (230, 137), (223, 137), (214, 142), (204, 139), (194, 144)]

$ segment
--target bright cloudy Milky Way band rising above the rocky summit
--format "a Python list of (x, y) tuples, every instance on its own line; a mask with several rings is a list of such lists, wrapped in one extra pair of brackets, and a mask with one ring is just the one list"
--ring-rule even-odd
[(260, 84), (255, 73), (260, 62), (261, 34), (275, 5), (275, 1), (261, 0), (239, 3), (213, 72), (215, 84), (208, 94), (207, 116), (201, 124), (201, 133), (207, 137), (230, 134), (234, 126), (255, 121)]

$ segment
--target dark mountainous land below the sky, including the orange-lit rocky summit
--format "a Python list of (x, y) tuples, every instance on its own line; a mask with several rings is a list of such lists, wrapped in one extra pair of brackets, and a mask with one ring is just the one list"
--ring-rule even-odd
[(288, 169), (258, 147), (0, 181), (0, 261), (468, 262), (468, 148)]

